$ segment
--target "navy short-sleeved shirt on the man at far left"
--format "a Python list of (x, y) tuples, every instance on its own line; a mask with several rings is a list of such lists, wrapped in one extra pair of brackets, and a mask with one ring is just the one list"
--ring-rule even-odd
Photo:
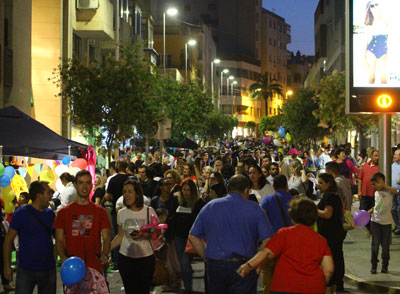
[(49, 231), (40, 224), (32, 213), (40, 218), (49, 231), (53, 230), (55, 214), (49, 208), (39, 211), (28, 204), (14, 212), (10, 228), (18, 233), (18, 267), (27, 270), (50, 270), (56, 266), (53, 240)]

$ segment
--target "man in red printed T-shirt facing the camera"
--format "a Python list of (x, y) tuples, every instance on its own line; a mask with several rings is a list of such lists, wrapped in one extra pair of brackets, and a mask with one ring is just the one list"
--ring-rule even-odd
[(102, 264), (108, 262), (111, 247), (107, 212), (89, 200), (92, 177), (88, 171), (81, 170), (76, 174), (75, 188), (78, 198), (62, 208), (54, 222), (58, 254), (62, 262), (70, 256), (80, 257), (86, 267), (102, 273)]

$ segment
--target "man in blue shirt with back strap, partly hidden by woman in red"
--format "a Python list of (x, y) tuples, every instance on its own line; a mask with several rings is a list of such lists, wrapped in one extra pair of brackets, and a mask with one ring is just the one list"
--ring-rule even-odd
[[(261, 202), (261, 208), (264, 209), (267, 215), (274, 233), (283, 227), (288, 227), (292, 225), (288, 209), (289, 202), (292, 200), (292, 195), (288, 192), (287, 178), (284, 175), (278, 175), (274, 178), (273, 187), (275, 189), (275, 194), (268, 195)], [(276, 196), (275, 196), (276, 195)], [(278, 199), (282, 205), (282, 210), (278, 203)], [(269, 287), (272, 281), (272, 274), (274, 272), (274, 260), (268, 260), (261, 267), (261, 277), (264, 294), (269, 293)]]

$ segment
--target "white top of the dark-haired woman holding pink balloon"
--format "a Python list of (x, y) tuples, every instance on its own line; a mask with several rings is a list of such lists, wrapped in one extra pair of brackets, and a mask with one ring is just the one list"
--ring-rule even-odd
[(124, 231), (119, 253), (131, 258), (153, 255), (153, 249), (148, 239), (133, 240), (131, 236), (133, 231), (140, 231), (142, 226), (149, 223), (152, 214), (156, 215), (154, 209), (149, 207), (149, 215), (147, 215), (147, 206), (143, 206), (140, 211), (133, 211), (126, 207), (118, 211), (117, 223)]

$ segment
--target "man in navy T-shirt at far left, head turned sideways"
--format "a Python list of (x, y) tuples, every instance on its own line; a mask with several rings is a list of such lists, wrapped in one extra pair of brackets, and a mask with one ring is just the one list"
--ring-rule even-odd
[(47, 182), (35, 181), (30, 185), (32, 205), (17, 209), (11, 219), (4, 241), (4, 275), (12, 281), (11, 248), (16, 235), (19, 238), (16, 294), (56, 293), (56, 263), (53, 254), (54, 212), (47, 208), (52, 198)]

